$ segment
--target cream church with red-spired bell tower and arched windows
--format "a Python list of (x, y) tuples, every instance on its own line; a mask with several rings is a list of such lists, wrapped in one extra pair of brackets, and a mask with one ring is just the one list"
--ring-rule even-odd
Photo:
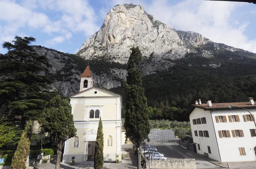
[(63, 161), (76, 163), (93, 161), (99, 118), (104, 133), (104, 161), (121, 160), (122, 151), (122, 96), (100, 87), (93, 87), (89, 64), (80, 76), (79, 93), (70, 96), (76, 136), (65, 142)]

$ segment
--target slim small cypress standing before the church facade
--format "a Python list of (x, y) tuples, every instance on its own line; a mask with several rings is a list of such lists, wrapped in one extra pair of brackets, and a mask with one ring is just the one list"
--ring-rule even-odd
[(99, 118), (99, 127), (97, 131), (97, 138), (95, 144), (95, 154), (94, 154), (94, 168), (95, 169), (103, 169), (104, 164), (104, 156), (103, 156), (103, 148), (104, 148), (104, 138), (103, 138), (103, 127), (101, 117)]

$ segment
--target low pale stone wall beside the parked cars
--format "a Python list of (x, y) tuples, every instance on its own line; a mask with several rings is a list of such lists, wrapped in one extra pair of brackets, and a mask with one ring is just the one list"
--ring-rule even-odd
[(195, 158), (171, 159), (171, 160), (149, 160), (149, 169), (196, 169)]

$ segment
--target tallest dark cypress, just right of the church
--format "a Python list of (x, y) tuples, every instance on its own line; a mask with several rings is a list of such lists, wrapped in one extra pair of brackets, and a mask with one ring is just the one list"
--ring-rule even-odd
[(125, 112), (126, 140), (134, 144), (137, 151), (137, 169), (140, 169), (140, 144), (148, 138), (150, 124), (148, 120), (147, 99), (142, 86), (141, 68), (142, 55), (140, 49), (131, 48), (128, 60), (127, 82), (122, 81), (122, 87), (127, 95)]

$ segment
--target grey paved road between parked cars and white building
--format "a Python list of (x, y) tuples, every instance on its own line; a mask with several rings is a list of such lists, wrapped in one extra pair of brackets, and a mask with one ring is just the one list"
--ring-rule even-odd
[(198, 169), (221, 169), (221, 167), (216, 166), (209, 161), (205, 161), (196, 155), (193, 155), (188, 150), (181, 148), (175, 143), (163, 143), (163, 144), (151, 144), (157, 147), (158, 152), (162, 153), (167, 159), (177, 159), (177, 158), (195, 158), (196, 166)]

